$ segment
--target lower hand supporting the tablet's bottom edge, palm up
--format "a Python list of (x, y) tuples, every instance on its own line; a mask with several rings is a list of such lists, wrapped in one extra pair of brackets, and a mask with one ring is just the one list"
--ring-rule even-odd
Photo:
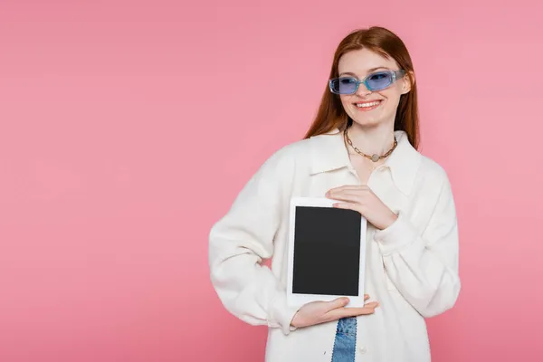
[[(364, 295), (364, 300), (369, 296)], [(372, 301), (364, 304), (362, 308), (345, 308), (348, 298), (338, 298), (330, 301), (311, 301), (304, 304), (294, 315), (291, 326), (296, 328), (309, 327), (319, 323), (330, 322), (347, 317), (356, 317), (375, 312), (378, 302)]]

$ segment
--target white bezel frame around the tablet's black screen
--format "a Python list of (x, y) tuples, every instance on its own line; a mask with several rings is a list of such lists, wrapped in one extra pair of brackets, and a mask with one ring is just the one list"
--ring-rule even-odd
[(293, 269), (294, 269), (294, 224), (296, 220), (296, 206), (334, 207), (337, 200), (321, 197), (293, 197), (291, 199), (291, 210), (289, 215), (289, 249), (288, 249), (288, 275), (287, 275), (287, 302), (291, 307), (301, 307), (310, 301), (335, 300), (340, 297), (348, 297), (348, 308), (364, 306), (364, 287), (366, 277), (366, 232), (367, 220), (364, 216), (360, 219), (360, 260), (358, 262), (360, 274), (358, 276), (358, 295), (327, 295), (327, 294), (298, 294), (292, 292)]

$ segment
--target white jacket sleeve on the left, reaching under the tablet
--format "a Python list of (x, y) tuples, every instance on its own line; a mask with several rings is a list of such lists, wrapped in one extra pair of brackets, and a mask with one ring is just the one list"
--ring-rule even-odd
[(289, 334), (297, 309), (287, 306), (286, 291), (261, 265), (273, 255), (273, 239), (288, 207), (294, 160), (284, 148), (273, 154), (235, 198), (209, 234), (209, 267), (224, 308), (252, 325), (281, 328)]

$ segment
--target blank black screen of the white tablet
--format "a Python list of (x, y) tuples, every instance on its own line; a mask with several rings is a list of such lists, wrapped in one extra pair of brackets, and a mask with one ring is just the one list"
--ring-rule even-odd
[(296, 206), (293, 293), (358, 296), (360, 221), (353, 210)]

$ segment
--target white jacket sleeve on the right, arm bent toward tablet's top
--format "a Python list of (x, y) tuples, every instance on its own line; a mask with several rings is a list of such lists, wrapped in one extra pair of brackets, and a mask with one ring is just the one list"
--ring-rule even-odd
[(461, 289), (458, 225), (451, 185), (444, 176), (433, 214), (422, 233), (399, 212), (395, 223), (375, 236), (386, 273), (415, 310), (433, 317), (452, 308)]

